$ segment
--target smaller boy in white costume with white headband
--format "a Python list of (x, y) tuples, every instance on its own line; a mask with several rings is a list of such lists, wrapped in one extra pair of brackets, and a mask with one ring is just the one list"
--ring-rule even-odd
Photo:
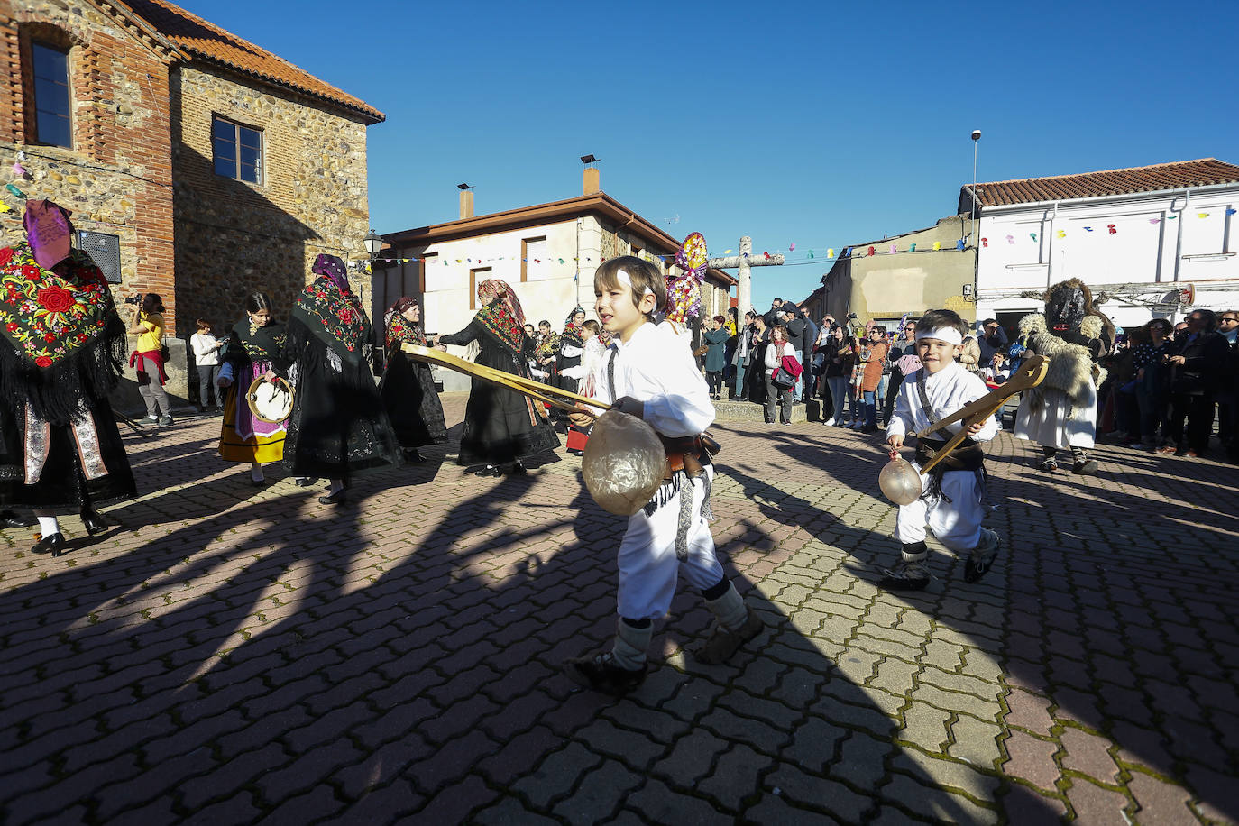
[[(963, 350), (966, 329), (963, 320), (949, 310), (930, 310), (917, 322), (916, 347), (923, 367), (904, 376), (900, 385), (895, 415), (886, 428), (886, 442), (892, 454), (903, 447), (907, 433), (924, 430), (989, 393), (985, 381), (955, 360)], [(918, 440), (913, 461), (917, 471), (960, 427), (961, 424), (948, 425), (944, 431)], [(980, 442), (990, 441), (997, 431), (994, 416), (971, 425), (963, 445), (939, 462), (929, 476), (921, 476), (924, 493), (912, 504), (900, 505), (895, 536), (903, 547), (900, 563), (885, 571), (886, 576), (880, 582), (883, 588), (919, 591), (929, 585), (926, 525), (950, 550), (969, 552), (965, 581), (976, 582), (990, 570), (1000, 540), (997, 534), (981, 528), (985, 515), (981, 504), (985, 452)]]

